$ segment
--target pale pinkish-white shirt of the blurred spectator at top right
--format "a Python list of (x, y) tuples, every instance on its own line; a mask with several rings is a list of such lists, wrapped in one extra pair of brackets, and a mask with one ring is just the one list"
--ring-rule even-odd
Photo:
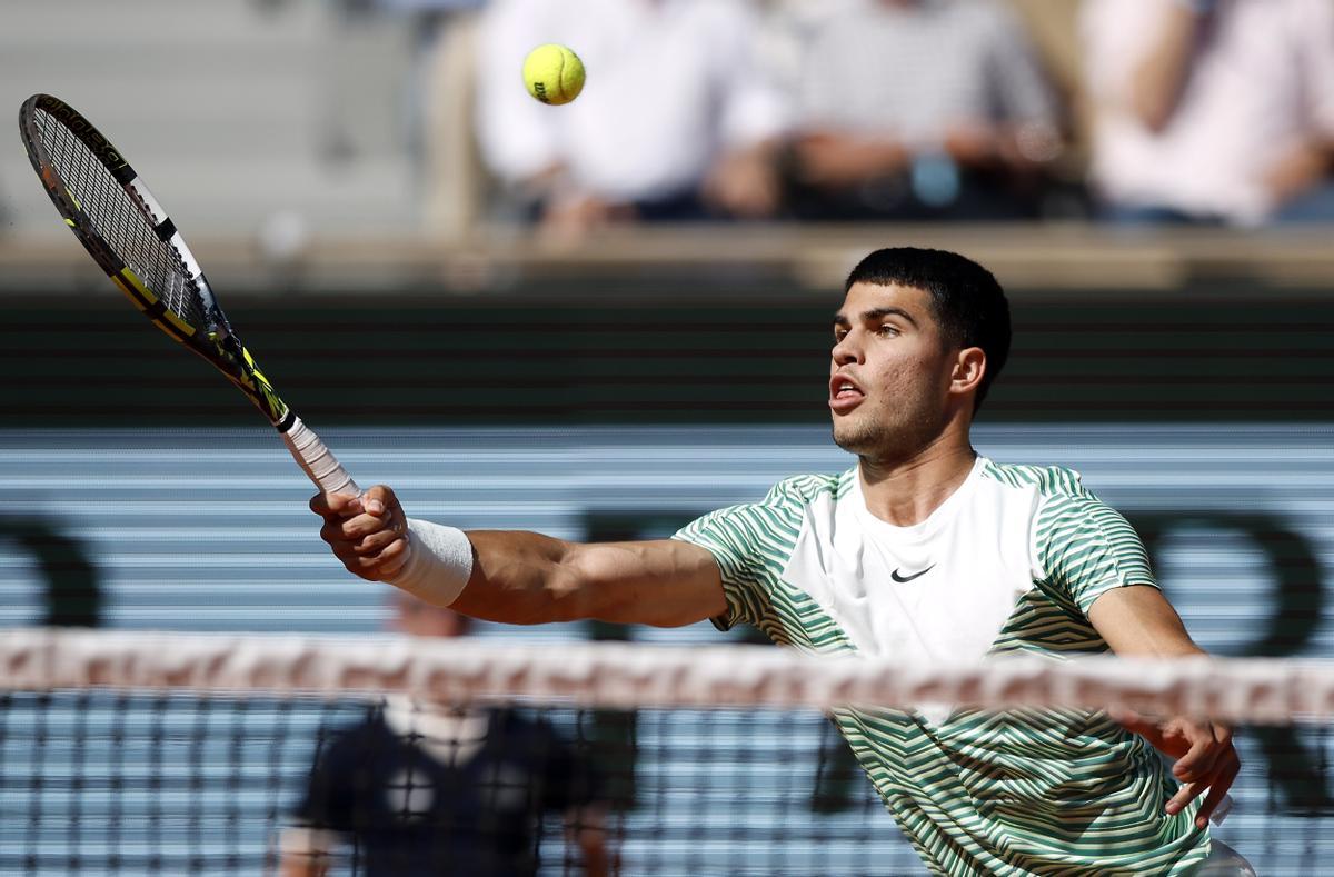
[(1118, 204), (1262, 221), (1275, 207), (1265, 185), (1275, 163), (1313, 135), (1334, 136), (1334, 1), (1221, 0), (1155, 135), (1127, 109), (1130, 77), (1177, 1), (1085, 3), (1093, 181)]

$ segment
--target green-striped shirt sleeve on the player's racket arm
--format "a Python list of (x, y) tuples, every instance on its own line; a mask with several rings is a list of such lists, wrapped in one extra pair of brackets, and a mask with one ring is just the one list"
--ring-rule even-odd
[(784, 481), (762, 502), (710, 512), (672, 536), (707, 549), (718, 561), (727, 610), (712, 618), (714, 626), (759, 626), (771, 602), (774, 577), (768, 573), (782, 566), (796, 541), (802, 505), (792, 501)]

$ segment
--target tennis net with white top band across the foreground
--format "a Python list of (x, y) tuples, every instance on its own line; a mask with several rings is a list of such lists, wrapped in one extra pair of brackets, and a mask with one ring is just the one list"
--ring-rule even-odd
[(1334, 861), (1329, 665), (15, 630), (0, 680), (0, 873), (924, 873), (822, 712), (872, 701), (1207, 705), (1214, 837)]

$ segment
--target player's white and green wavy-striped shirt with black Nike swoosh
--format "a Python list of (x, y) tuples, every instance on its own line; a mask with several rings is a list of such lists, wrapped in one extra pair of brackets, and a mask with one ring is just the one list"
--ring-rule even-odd
[[(871, 516), (854, 468), (786, 480), (675, 538), (718, 560), (728, 605), (718, 624), (808, 652), (918, 662), (1105, 652), (1093, 602), (1157, 586), (1138, 536), (1077, 473), (984, 457), (914, 526)], [(1183, 874), (1209, 854), (1198, 808), (1167, 816), (1177, 782), (1102, 713), (939, 705), (834, 718), (934, 873)]]

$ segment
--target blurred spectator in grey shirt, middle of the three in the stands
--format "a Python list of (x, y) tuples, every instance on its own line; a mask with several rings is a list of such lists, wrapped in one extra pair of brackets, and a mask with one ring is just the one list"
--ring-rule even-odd
[(788, 163), (798, 219), (1002, 220), (1038, 212), (1057, 101), (991, 0), (860, 0), (814, 29)]

